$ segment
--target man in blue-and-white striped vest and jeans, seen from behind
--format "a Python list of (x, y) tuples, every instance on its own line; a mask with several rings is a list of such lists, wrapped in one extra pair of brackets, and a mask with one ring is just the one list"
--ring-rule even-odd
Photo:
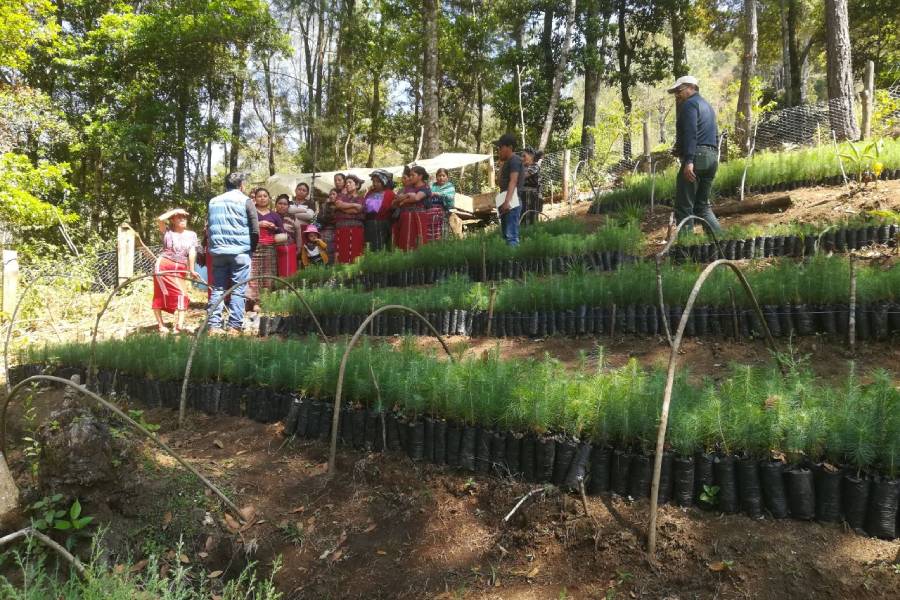
[(209, 333), (225, 331), (222, 324), (222, 296), (238, 285), (228, 298), (228, 331), (240, 333), (244, 324), (244, 294), (250, 279), (250, 255), (259, 242), (256, 206), (244, 194), (244, 176), (231, 173), (225, 178), (225, 193), (209, 201), (206, 213), (209, 253), (212, 257), (212, 293), (209, 297)]

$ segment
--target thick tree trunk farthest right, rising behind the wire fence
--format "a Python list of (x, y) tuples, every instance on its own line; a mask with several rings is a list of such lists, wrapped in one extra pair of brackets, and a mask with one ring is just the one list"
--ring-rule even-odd
[(825, 50), (828, 58), (828, 115), (839, 140), (859, 139), (853, 114), (853, 69), (847, 0), (825, 0)]

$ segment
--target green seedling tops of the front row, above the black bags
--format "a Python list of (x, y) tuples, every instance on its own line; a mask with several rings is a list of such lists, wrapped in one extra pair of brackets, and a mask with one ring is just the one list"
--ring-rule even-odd
[[(134, 336), (98, 345), (98, 366), (180, 379), (190, 340)], [(233, 383), (333, 396), (345, 346), (305, 340), (204, 338), (195, 381)], [(20, 362), (86, 365), (87, 344), (31, 348)], [(166, 361), (158, 357), (165, 356)], [(173, 373), (171, 367), (177, 366)], [(585, 366), (585, 365), (583, 365)], [(586, 366), (585, 366), (586, 367)], [(180, 373), (178, 372), (180, 371)], [(372, 379), (379, 382), (376, 394)], [(895, 476), (900, 463), (900, 389), (876, 372), (829, 387), (805, 366), (732, 366), (718, 382), (676, 380), (669, 443), (685, 454), (717, 449), (752, 456), (781, 452), (791, 460), (828, 459)], [(449, 363), (414, 347), (362, 343), (351, 352), (345, 402), (393, 407), (515, 431), (563, 432), (649, 451), (654, 444), (665, 374), (636, 361), (618, 369), (567, 370), (550, 357), (501, 360), (499, 351)]]

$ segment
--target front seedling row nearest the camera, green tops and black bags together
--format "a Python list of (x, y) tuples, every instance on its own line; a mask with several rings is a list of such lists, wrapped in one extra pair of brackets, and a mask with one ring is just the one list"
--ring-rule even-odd
[[(138, 336), (97, 348), (101, 393), (177, 404), (189, 340)], [(85, 368), (89, 346), (32, 348), (13, 379)], [(287, 435), (327, 439), (342, 344), (204, 339), (193, 408), (285, 420)], [(83, 374), (83, 373), (82, 373)], [(897, 536), (900, 390), (891, 374), (839, 387), (811, 372), (734, 366), (718, 383), (676, 381), (661, 501), (758, 518), (846, 521)], [(377, 382), (377, 386), (373, 385)], [(470, 473), (513, 475), (588, 493), (643, 498), (665, 374), (635, 362), (573, 373), (551, 359), (449, 363), (411, 345), (351, 352), (340, 441)]]

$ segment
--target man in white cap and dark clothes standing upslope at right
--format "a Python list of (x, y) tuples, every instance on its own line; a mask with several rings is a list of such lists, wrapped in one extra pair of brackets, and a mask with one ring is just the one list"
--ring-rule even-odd
[[(709, 203), (719, 167), (716, 113), (700, 96), (696, 77), (679, 77), (667, 91), (675, 96), (675, 154), (681, 160), (675, 184), (675, 220), (680, 223), (696, 215), (706, 221), (703, 227), (707, 231), (719, 233), (722, 228)], [(692, 230), (686, 226), (682, 233)]]

